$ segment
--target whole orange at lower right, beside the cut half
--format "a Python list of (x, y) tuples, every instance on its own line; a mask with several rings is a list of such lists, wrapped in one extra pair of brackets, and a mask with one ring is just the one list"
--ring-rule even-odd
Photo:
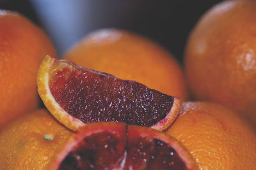
[(256, 134), (236, 113), (207, 102), (184, 103), (166, 131), (177, 138), (200, 169), (255, 169)]

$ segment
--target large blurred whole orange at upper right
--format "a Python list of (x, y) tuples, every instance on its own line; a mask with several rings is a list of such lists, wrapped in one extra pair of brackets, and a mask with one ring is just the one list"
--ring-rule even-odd
[(195, 99), (236, 110), (256, 127), (256, 1), (224, 1), (191, 32), (185, 53)]

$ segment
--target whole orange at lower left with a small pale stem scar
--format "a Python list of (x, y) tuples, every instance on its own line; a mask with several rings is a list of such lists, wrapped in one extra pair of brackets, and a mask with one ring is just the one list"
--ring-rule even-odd
[[(44, 139), (45, 134), (53, 139)], [(52, 155), (72, 134), (46, 110), (22, 115), (0, 132), (0, 167), (46, 169)]]

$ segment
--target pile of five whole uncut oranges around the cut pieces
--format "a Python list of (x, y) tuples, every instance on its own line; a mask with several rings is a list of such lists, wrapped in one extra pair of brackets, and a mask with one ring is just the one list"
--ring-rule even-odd
[[(223, 1), (195, 25), (184, 67), (161, 45), (102, 29), (63, 58), (139, 81), (186, 102), (166, 134), (200, 169), (256, 167), (256, 1)], [(0, 11), (0, 167), (44, 169), (72, 131), (40, 108), (36, 74), (56, 57), (46, 34), (19, 13)], [(194, 101), (188, 101), (188, 100)]]

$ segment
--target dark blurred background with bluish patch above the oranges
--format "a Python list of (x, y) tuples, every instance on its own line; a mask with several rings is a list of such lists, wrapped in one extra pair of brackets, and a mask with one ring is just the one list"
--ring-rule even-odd
[(61, 56), (89, 32), (116, 27), (157, 41), (182, 62), (196, 21), (219, 0), (0, 0), (40, 25)]

